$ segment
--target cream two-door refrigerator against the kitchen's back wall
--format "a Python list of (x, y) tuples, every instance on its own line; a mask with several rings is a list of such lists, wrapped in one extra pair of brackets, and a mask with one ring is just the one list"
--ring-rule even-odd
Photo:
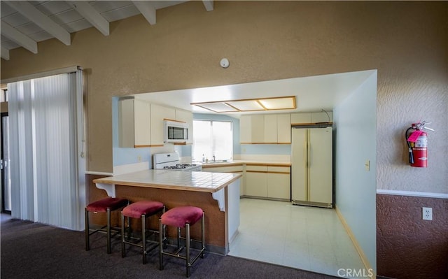
[(293, 204), (332, 208), (332, 127), (293, 127), (291, 136)]

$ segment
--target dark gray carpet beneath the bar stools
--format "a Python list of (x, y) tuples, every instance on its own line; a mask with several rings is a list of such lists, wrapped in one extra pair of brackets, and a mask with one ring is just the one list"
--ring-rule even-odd
[[(120, 243), (106, 254), (104, 235), (93, 238), (85, 251), (81, 231), (10, 219), (1, 215), (1, 278), (186, 278), (181, 259), (165, 257), (165, 270), (158, 269), (157, 249), (141, 264), (139, 248), (122, 258)], [(191, 269), (191, 278), (335, 278), (285, 266), (231, 256), (207, 254)]]

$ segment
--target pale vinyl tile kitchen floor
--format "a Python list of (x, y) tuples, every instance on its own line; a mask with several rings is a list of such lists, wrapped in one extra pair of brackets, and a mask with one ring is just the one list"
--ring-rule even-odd
[(230, 243), (235, 257), (332, 276), (344, 276), (339, 269), (365, 269), (331, 208), (241, 199), (238, 231)]

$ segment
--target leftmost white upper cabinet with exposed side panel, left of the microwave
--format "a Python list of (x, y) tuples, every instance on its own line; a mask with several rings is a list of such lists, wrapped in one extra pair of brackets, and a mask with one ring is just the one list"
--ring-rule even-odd
[(120, 148), (151, 146), (151, 104), (138, 99), (118, 101), (118, 145)]

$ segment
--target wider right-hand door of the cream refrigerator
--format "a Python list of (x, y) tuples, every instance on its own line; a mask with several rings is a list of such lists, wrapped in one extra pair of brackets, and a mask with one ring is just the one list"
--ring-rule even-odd
[(309, 201), (332, 203), (332, 128), (309, 129)]

